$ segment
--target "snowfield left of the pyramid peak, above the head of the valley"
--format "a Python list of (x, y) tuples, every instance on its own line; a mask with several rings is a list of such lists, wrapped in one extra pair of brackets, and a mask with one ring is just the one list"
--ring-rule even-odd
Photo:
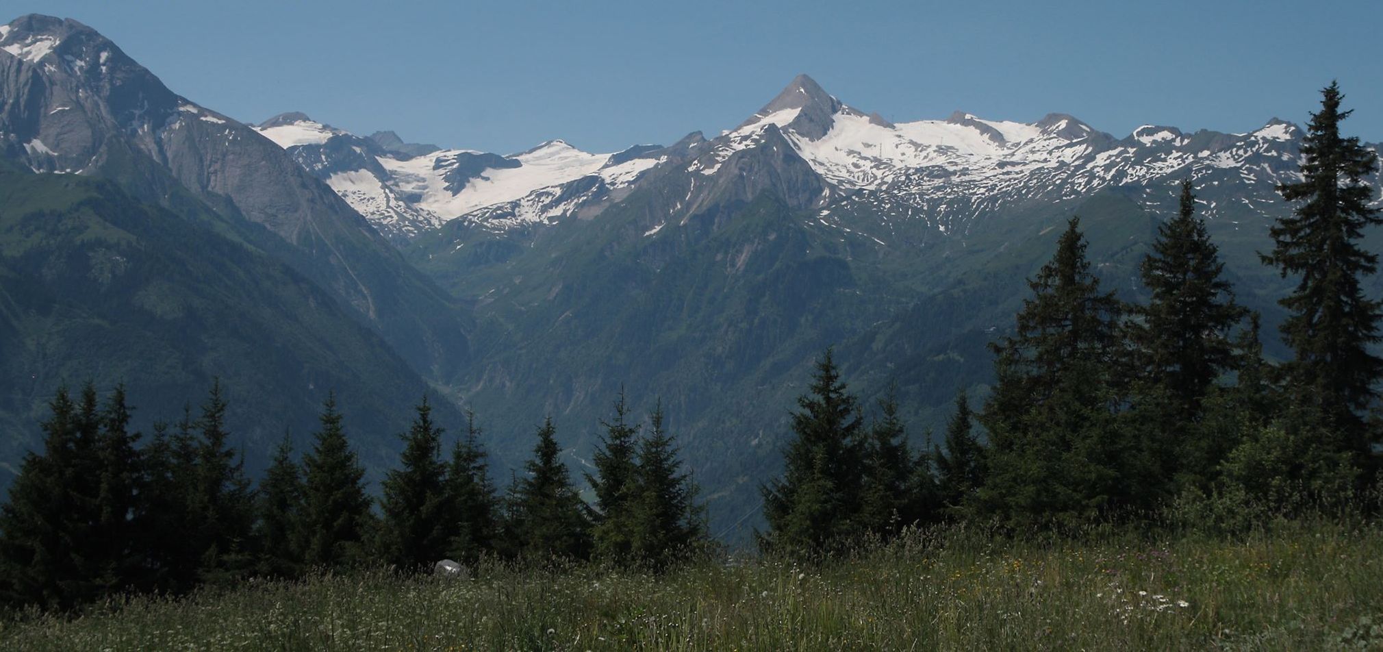
[(506, 230), (578, 215), (667, 159), (657, 145), (591, 154), (561, 140), (508, 156), (440, 150), (393, 132), (362, 138), (303, 114), (256, 129), (396, 241), (458, 217)]

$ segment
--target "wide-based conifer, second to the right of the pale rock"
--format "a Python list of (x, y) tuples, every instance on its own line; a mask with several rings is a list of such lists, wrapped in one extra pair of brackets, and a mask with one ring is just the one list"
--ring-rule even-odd
[(567, 467), (557, 458), (552, 419), (538, 428), (538, 444), (512, 496), (510, 529), (516, 554), (538, 562), (585, 559), (591, 554), (591, 522)]

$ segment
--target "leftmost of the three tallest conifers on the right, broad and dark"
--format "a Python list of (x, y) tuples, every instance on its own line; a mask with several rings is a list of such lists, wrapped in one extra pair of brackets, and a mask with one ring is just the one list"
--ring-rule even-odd
[(997, 382), (975, 507), (1014, 525), (1083, 522), (1141, 496), (1144, 464), (1111, 413), (1120, 305), (1099, 291), (1076, 217), (1028, 284), (1017, 334), (990, 345)]

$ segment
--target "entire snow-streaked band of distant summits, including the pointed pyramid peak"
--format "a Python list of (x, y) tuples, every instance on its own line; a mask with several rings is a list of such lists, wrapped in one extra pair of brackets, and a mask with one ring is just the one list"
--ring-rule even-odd
[[(669, 148), (640, 145), (613, 155), (560, 140), (508, 156), (434, 145), (390, 151), (300, 114), (259, 130), (396, 239), (454, 219), (485, 231), (591, 219), (649, 183), (675, 188), (669, 197), (680, 194), (661, 206), (664, 223), (773, 190), (792, 208), (816, 210), (826, 224), (871, 215), (881, 223), (920, 220), (956, 233), (1017, 205), (1061, 203), (1191, 174), (1210, 188), (1202, 197), (1213, 219), (1225, 201), (1260, 212), (1278, 201), (1275, 185), (1299, 174), (1303, 136), (1278, 119), (1242, 134), (1147, 125), (1124, 138), (1065, 114), (1025, 123), (957, 111), (892, 123), (841, 102), (806, 75), (709, 141), (697, 133)], [(401, 145), (393, 133), (387, 137)], [(1164, 199), (1145, 195), (1149, 206)]]

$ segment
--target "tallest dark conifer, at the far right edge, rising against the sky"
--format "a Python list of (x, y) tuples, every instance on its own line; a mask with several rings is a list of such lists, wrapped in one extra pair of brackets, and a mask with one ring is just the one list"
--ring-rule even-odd
[(1373, 188), (1364, 181), (1377, 156), (1358, 137), (1340, 134), (1340, 122), (1353, 112), (1340, 111), (1342, 100), (1335, 82), (1321, 91), (1321, 111), (1311, 114), (1301, 143), (1303, 179), (1278, 185), (1296, 209), (1272, 227), (1275, 246), (1263, 260), (1283, 278), (1300, 277), (1279, 302), (1289, 311), (1282, 335), (1296, 352), (1283, 370), (1293, 395), (1333, 439), (1322, 446), (1362, 454), (1371, 442), (1361, 413), (1376, 396), (1383, 359), (1369, 350), (1379, 342), (1380, 302), (1365, 298), (1361, 287), (1377, 270), (1377, 256), (1359, 241), (1383, 217), (1369, 206)]

